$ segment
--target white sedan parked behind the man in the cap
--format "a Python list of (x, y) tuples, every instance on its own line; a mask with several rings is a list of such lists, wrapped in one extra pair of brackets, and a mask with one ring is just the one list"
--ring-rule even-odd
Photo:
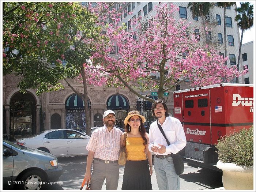
[(74, 129), (50, 129), (30, 138), (16, 139), (17, 144), (46, 151), (56, 157), (88, 155), (90, 137)]

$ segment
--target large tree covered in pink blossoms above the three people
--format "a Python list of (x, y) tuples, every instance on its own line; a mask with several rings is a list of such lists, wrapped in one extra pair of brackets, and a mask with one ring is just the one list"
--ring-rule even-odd
[[(177, 84), (189, 80), (192, 86), (221, 83), (242, 75), (235, 67), (225, 66), (227, 58), (214, 46), (202, 46), (199, 35), (185, 19), (175, 20), (175, 5), (161, 3), (148, 20), (134, 18), (127, 27), (117, 24), (118, 17), (106, 28), (108, 41), (95, 45), (92, 63), (85, 68), (88, 82), (128, 87), (134, 94), (157, 90), (158, 97)], [(118, 54), (109, 54), (113, 46)], [(178, 81), (180, 79), (180, 81)]]

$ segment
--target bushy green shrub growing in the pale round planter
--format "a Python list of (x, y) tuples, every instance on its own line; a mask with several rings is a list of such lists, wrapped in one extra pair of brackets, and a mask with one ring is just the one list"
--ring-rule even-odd
[(215, 146), (221, 162), (253, 166), (253, 126), (219, 138)]

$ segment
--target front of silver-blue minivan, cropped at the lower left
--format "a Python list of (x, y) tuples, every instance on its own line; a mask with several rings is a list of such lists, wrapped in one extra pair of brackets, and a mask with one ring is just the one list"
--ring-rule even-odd
[(59, 180), (61, 173), (53, 155), (3, 139), (3, 189), (41, 189)]

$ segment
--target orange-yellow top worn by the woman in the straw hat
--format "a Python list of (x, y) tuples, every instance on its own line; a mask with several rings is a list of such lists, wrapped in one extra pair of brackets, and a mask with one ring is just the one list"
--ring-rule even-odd
[(130, 161), (142, 161), (146, 160), (146, 147), (144, 146), (145, 141), (142, 137), (128, 137), (126, 138), (126, 153), (127, 160)]

